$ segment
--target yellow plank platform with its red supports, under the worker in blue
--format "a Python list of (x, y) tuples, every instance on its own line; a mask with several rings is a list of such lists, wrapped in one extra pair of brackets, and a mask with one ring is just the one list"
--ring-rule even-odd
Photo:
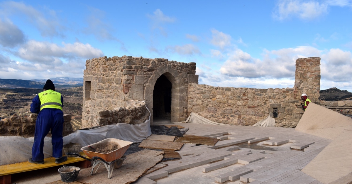
[[(84, 157), (87, 157), (83, 152), (80, 152), (80, 154)], [(67, 161), (64, 161), (60, 164), (55, 164), (55, 158), (50, 157), (44, 159), (44, 164), (31, 164), (30, 162), (26, 161), (19, 162), (16, 164), (0, 165), (0, 184), (11, 184), (11, 174), (14, 173), (33, 171), (42, 168), (70, 164), (74, 162), (81, 162), (80, 164), (82, 164), (82, 167), (88, 168), (90, 166), (90, 161), (87, 161), (81, 157), (67, 157)]]

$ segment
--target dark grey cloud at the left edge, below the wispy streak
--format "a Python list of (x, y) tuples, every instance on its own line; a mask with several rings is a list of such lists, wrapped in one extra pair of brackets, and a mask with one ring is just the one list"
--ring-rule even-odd
[(16, 47), (25, 42), (23, 32), (9, 20), (2, 21), (0, 18), (0, 44), (3, 47)]

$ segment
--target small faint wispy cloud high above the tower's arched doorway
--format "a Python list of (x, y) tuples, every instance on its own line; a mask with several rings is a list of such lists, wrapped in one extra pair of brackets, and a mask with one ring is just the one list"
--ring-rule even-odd
[(158, 29), (162, 35), (165, 37), (168, 35), (163, 27), (166, 23), (173, 23), (176, 21), (176, 18), (166, 16), (160, 9), (157, 9), (153, 12), (152, 15), (147, 14), (152, 21), (152, 30)]

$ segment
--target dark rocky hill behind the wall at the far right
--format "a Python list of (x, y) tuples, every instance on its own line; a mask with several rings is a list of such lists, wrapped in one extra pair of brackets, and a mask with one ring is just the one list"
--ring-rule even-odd
[(319, 99), (325, 101), (352, 100), (352, 93), (332, 87), (327, 90), (320, 90)]

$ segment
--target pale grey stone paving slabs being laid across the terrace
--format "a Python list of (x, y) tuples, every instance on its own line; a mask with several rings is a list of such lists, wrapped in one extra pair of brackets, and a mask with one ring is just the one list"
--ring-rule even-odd
[[(221, 179), (223, 182), (226, 182), (225, 180), (230, 180), (230, 176), (232, 176), (233, 179), (239, 177), (241, 181), (247, 183), (251, 181), (252, 183), (260, 182), (260, 184), (282, 184), (277, 182), (279, 180), (283, 180), (284, 178), (290, 177), (294, 173), (298, 172), (298, 169), (301, 169), (306, 166), (309, 161), (315, 157), (315, 155), (321, 152), (321, 150), (324, 149), (331, 142), (330, 140), (323, 139), (321, 137), (316, 137), (314, 135), (294, 131), (293, 128), (250, 127), (235, 125), (231, 127), (224, 127), (221, 125), (206, 125), (194, 123), (182, 123), (180, 125), (189, 128), (187, 134), (190, 135), (208, 137), (221, 137), (224, 136), (224, 134), (230, 135), (225, 135), (228, 136), (228, 139), (219, 140), (215, 146), (195, 146), (194, 144), (186, 144), (180, 149), (180, 151), (176, 151), (180, 153), (182, 159), (177, 161), (168, 161), (169, 166), (164, 167), (153, 173), (147, 174), (142, 178), (155, 180), (168, 176), (172, 177), (173, 175), (170, 176), (170, 173), (197, 167), (200, 169), (201, 173), (203, 173), (202, 171), (206, 171), (207, 174), (211, 174), (213, 172), (219, 173), (219, 171), (221, 170), (226, 171), (224, 173), (220, 172), (220, 175), (222, 175), (222, 177), (219, 178), (225, 178)], [(248, 143), (248, 141), (251, 142), (252, 140), (267, 137), (271, 138), (271, 140), (268, 141), (277, 139), (276, 142), (278, 145), (274, 146), (274, 142), (273, 147), (271, 148), (274, 148), (274, 150), (279, 151), (264, 151), (260, 149), (240, 148), (239, 146), (237, 146), (237, 144), (239, 143)], [(283, 141), (294, 141), (292, 145), (299, 144), (304, 141), (315, 143), (309, 145), (309, 147), (303, 148), (304, 152), (302, 152), (290, 150), (290, 146), (292, 145), (289, 144), (280, 145), (282, 140), (280, 141), (278, 139), (285, 139)], [(261, 142), (260, 144), (263, 145), (263, 142)], [(236, 164), (239, 164), (238, 159), (243, 158), (235, 158), (240, 157), (240, 154), (243, 155), (243, 158), (250, 157), (251, 155), (253, 157), (253, 155), (256, 154), (261, 155), (261, 157), (263, 156), (264, 158), (260, 160), (254, 159), (252, 162), (249, 161), (247, 165), (240, 166)], [(236, 159), (237, 162), (235, 162)], [(231, 172), (228, 172), (228, 168), (231, 167), (235, 167), (236, 169)], [(237, 176), (237, 173), (240, 173), (240, 176)], [(220, 175), (214, 175), (214, 179)], [(214, 182), (214, 179), (211, 181), (209, 180), (209, 183)], [(311, 179), (312, 178), (309, 178), (309, 180)], [(144, 182), (146, 181), (151, 182), (149, 180), (145, 180)], [(315, 180), (313, 182), (315, 182)], [(175, 184), (176, 183), (177, 178), (175, 178)]]

